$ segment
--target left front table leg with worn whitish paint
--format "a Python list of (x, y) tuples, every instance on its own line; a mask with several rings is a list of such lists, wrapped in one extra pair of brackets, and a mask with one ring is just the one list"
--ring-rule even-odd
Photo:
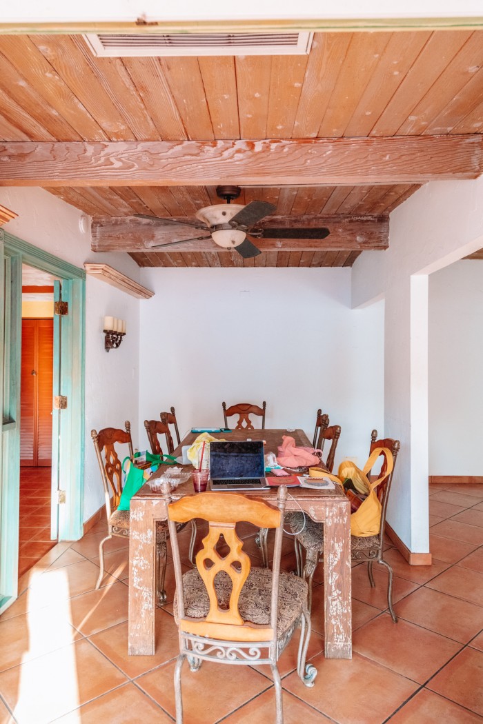
[(130, 654), (154, 654), (156, 523), (146, 500), (131, 499), (129, 542)]

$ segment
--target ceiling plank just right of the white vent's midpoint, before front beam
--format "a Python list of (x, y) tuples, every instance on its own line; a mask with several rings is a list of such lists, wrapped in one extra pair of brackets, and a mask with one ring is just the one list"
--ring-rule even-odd
[(214, 137), (240, 138), (235, 58), (199, 56), (198, 61)]

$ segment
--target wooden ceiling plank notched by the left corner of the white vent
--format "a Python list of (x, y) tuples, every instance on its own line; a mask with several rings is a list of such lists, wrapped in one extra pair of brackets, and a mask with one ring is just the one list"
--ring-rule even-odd
[(133, 83), (122, 59), (97, 58), (88, 49), (84, 38), (72, 38), (85, 63), (98, 78), (104, 92), (116, 107), (117, 112), (125, 120), (136, 140), (161, 140), (151, 116), (148, 114), (143, 99)]

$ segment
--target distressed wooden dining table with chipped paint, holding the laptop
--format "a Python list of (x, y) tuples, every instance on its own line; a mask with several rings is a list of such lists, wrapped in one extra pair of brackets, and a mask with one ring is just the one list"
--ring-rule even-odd
[[(264, 440), (266, 452), (277, 452), (282, 435), (291, 435), (296, 445), (310, 445), (303, 430), (265, 429), (246, 432), (234, 430), (214, 434), (230, 440)], [(196, 434), (188, 434), (181, 445), (190, 445)], [(181, 445), (175, 455), (181, 455)], [(162, 468), (155, 473), (159, 475)], [(287, 510), (298, 505), (314, 520), (324, 523), (324, 623), (325, 656), (329, 659), (352, 657), (352, 609), (350, 602), (350, 505), (342, 489), (309, 490), (290, 488)], [(191, 479), (177, 487), (175, 500), (193, 494)], [(277, 489), (248, 492), (266, 500), (277, 498)], [(295, 499), (295, 500), (293, 500)], [(296, 501), (296, 502), (295, 502)], [(297, 505), (298, 504), (298, 505)], [(161, 493), (151, 492), (144, 485), (131, 500), (130, 508), (130, 571), (129, 571), (129, 653), (154, 654), (155, 529), (156, 521), (166, 520), (166, 507)], [(317, 615), (317, 612), (313, 612)]]

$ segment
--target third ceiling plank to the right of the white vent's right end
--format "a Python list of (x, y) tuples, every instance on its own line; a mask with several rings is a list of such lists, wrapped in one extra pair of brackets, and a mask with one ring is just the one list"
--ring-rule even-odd
[(392, 33), (343, 135), (369, 135), (430, 36), (430, 32)]

